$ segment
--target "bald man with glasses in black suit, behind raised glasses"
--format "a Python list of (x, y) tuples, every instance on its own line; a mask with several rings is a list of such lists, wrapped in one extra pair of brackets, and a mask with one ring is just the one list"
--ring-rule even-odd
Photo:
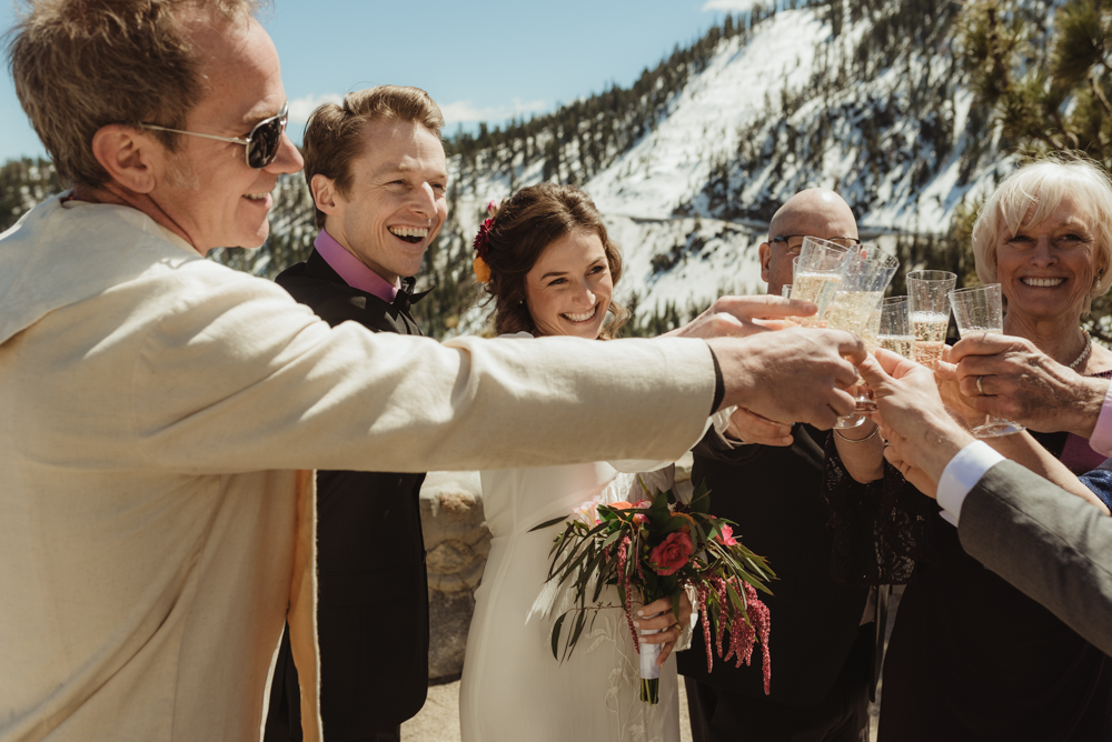
[[(784, 203), (761, 244), (770, 294), (792, 282), (804, 237), (857, 244), (853, 211), (837, 193), (817, 188)], [(861, 428), (841, 432), (864, 438), (875, 425)], [(767, 599), (771, 695), (764, 694), (759, 662), (735, 669), (716, 659), (707, 672), (701, 632), (691, 651), (678, 654), (695, 742), (867, 739), (881, 622), (868, 588), (830, 576), (832, 542), (820, 501), (826, 437), (811, 425), (739, 411), (726, 437), (708, 435), (695, 450), (692, 481), (706, 482), (715, 513), (741, 523), (745, 544), (767, 556), (780, 578)]]

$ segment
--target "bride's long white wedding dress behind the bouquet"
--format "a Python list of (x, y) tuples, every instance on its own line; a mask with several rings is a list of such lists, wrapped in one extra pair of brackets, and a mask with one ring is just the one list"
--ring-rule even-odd
[(639, 658), (615, 588), (602, 596), (613, 608), (597, 611), (594, 624), (588, 619), (564, 663), (553, 658), (550, 641), (560, 600), (549, 615), (528, 618), (564, 525), (529, 529), (598, 494), (604, 503), (639, 500), (639, 488), (631, 494), (633, 475), (590, 463), (485, 471), (481, 479), (494, 539), (467, 636), (459, 691), (464, 742), (677, 742), (675, 656), (661, 669), (661, 702), (642, 702)]

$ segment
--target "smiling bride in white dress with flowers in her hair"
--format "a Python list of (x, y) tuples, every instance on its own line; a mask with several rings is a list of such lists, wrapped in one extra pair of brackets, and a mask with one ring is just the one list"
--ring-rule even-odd
[[(606, 340), (626, 319), (610, 299), (622, 258), (595, 204), (574, 187), (542, 183), (518, 191), (484, 223), (476, 249), (476, 274), (495, 298), (500, 334)], [(723, 424), (725, 420), (722, 415)], [(692, 623), (686, 595), (679, 616), (664, 599), (643, 609), (644, 615), (661, 615), (637, 621), (642, 630), (663, 630), (641, 640), (663, 645), (657, 705), (638, 698), (639, 658), (614, 588), (603, 593), (607, 606), (593, 623), (588, 620), (563, 663), (553, 658), (550, 642), (553, 621), (562, 612), (558, 602), (549, 614), (530, 611), (548, 574), (549, 547), (563, 525), (529, 529), (595, 497), (604, 503), (636, 502), (643, 497), (639, 485), (617, 468), (632, 472), (664, 465), (599, 462), (481, 472), (494, 539), (467, 638), (459, 693), (464, 742), (679, 739), (671, 653), (681, 625)]]

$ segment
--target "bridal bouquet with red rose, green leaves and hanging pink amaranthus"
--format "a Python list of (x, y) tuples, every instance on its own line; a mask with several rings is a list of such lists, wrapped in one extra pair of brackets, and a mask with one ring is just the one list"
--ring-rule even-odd
[[(711, 498), (705, 484), (698, 488), (689, 503), (683, 503), (671, 492), (656, 490), (652, 494), (644, 480), (638, 479), (638, 482), (647, 495), (644, 500), (600, 504), (596, 498), (569, 517), (533, 529), (537, 531), (566, 521), (549, 552), (548, 582), (556, 581), (557, 586), (567, 583), (573, 606), (553, 624), (553, 656), (563, 661), (570, 655), (587, 623), (588, 611), (603, 608), (599, 601), (603, 589), (615, 585), (622, 596), (634, 648), (641, 654), (641, 700), (657, 703), (661, 681), (656, 659), (661, 645), (641, 644), (631, 615), (634, 593), (639, 593), (643, 604), (671, 596), (672, 610), (678, 616), (679, 593), (691, 589), (696, 595), (694, 608), (702, 613), (707, 671), (713, 662), (712, 624), (718, 656), (723, 661), (735, 658), (735, 666), (749, 663), (754, 644), (759, 640), (767, 694), (772, 671), (770, 615), (756, 591), (772, 594), (764, 584), (775, 576), (772, 570), (764, 559), (737, 541), (733, 534), (735, 523), (707, 512)], [(568, 624), (566, 632), (565, 623)], [(723, 654), (727, 632), (729, 641)]]

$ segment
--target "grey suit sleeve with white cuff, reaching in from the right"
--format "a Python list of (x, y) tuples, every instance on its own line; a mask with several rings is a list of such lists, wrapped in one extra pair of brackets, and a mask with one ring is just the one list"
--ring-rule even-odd
[(962, 505), (965, 551), (1112, 654), (1112, 518), (1013, 461)]

